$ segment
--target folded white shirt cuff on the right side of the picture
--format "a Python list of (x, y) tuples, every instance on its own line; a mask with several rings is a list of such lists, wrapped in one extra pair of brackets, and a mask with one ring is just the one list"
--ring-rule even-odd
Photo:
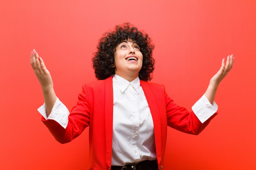
[(195, 113), (196, 117), (204, 123), (209, 119), (214, 113), (218, 110), (218, 105), (213, 102), (211, 104), (209, 100), (203, 95), (195, 104), (192, 106), (192, 110)]

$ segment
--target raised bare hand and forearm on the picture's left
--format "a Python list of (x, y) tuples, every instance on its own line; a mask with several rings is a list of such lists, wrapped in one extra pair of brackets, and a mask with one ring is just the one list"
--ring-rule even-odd
[(57, 99), (53, 88), (52, 77), (50, 72), (47, 70), (45, 63), (43, 62), (43, 59), (39, 57), (36, 50), (31, 52), (30, 64), (42, 87), (43, 97), (45, 100), (45, 110), (47, 116), (49, 116)]

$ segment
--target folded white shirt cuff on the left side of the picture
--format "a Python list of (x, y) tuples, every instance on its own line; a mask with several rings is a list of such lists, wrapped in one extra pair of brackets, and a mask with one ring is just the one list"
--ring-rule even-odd
[(45, 103), (40, 106), (38, 109), (38, 112), (47, 120), (47, 119), (52, 119), (58, 122), (63, 128), (67, 127), (68, 123), (68, 115), (70, 114), (69, 110), (67, 107), (58, 99), (56, 99), (56, 102), (52, 108), (52, 111), (47, 117), (46, 110), (45, 110)]

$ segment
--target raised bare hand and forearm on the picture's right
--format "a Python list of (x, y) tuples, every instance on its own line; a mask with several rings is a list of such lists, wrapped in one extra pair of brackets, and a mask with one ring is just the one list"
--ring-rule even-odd
[(229, 73), (233, 64), (234, 64), (233, 54), (227, 56), (226, 64), (225, 64), (225, 58), (223, 58), (220, 70), (216, 73), (216, 75), (214, 75), (211, 78), (209, 86), (208, 86), (207, 90), (205, 91), (205, 96), (207, 97), (207, 99), (209, 100), (209, 102), (211, 104), (213, 104), (214, 97), (216, 95), (217, 88), (218, 88), (220, 82), (222, 81), (222, 79), (224, 79), (224, 77), (227, 75), (227, 73)]

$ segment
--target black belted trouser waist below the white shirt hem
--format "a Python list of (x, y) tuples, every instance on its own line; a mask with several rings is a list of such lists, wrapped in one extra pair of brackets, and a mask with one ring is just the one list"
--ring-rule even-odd
[(129, 166), (111, 166), (110, 170), (147, 170), (149, 168), (155, 167), (158, 170), (157, 160), (154, 161), (142, 161), (135, 165)]

